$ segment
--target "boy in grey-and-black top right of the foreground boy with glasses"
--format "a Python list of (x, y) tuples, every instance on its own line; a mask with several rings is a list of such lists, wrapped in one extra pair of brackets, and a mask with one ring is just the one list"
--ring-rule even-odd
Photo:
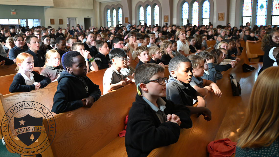
[(205, 100), (191, 85), (193, 77), (191, 61), (185, 56), (176, 56), (169, 63), (169, 80), (167, 84), (167, 100), (176, 104), (193, 106), (193, 99), (198, 106), (205, 106)]

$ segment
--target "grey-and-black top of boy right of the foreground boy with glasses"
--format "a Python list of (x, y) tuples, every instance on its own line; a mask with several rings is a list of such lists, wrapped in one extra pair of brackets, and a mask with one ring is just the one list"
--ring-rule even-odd
[(167, 100), (173, 101), (175, 104), (193, 106), (193, 95), (195, 95), (196, 92), (196, 89), (194, 89), (190, 84), (179, 82), (169, 75), (166, 89)]

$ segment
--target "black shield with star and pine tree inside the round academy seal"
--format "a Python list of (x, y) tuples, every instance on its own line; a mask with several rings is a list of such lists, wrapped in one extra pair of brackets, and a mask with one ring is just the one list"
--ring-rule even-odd
[[(29, 114), (21, 117), (21, 118), (16, 118), (14, 117), (14, 127), (15, 130), (22, 129), (24, 130), (31, 130), (33, 129), (32, 126), (42, 126), (43, 125), (43, 117), (36, 118), (32, 117)], [(21, 130), (20, 130), (21, 131)], [(26, 144), (27, 146), (30, 146), (32, 143), (34, 143), (41, 135), (41, 132), (25, 132), (22, 134), (18, 134), (17, 137), (20, 139), (21, 142)]]

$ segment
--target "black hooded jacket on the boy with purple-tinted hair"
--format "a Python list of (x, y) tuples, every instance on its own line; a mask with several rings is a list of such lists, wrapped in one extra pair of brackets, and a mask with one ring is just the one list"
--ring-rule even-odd
[(58, 114), (76, 110), (83, 106), (82, 99), (93, 96), (94, 102), (101, 96), (99, 86), (94, 84), (87, 76), (75, 77), (66, 71), (59, 72), (57, 91), (53, 97), (51, 111)]

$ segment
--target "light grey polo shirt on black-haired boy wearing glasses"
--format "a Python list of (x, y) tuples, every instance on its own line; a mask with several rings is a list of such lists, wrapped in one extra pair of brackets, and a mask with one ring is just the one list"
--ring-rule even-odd
[(105, 71), (104, 77), (103, 77), (103, 88), (104, 88), (104, 94), (107, 92), (107, 87), (109, 87), (109, 84), (116, 84), (123, 79), (123, 75), (121, 72), (117, 72), (116, 68), (114, 66), (110, 66), (110, 68), (107, 68)]

